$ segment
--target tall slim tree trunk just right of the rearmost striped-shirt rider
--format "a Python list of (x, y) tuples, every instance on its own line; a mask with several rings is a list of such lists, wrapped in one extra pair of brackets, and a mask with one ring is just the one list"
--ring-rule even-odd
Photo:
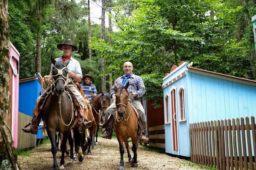
[[(102, 10), (101, 10), (101, 38), (105, 42), (105, 0), (102, 0)], [(101, 56), (101, 87), (104, 92), (106, 92), (106, 75), (105, 75), (105, 58)]]

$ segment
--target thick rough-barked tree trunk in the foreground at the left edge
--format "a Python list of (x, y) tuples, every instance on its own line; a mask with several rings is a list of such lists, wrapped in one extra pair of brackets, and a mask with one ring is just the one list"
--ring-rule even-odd
[(0, 167), (17, 169), (17, 155), (12, 147), (9, 91), (9, 23), (8, 0), (0, 0)]

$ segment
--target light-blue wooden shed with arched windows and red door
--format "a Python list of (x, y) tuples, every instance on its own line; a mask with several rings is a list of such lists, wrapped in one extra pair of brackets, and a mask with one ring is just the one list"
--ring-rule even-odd
[(189, 124), (256, 115), (256, 81), (174, 65), (163, 78), (165, 152), (190, 157)]

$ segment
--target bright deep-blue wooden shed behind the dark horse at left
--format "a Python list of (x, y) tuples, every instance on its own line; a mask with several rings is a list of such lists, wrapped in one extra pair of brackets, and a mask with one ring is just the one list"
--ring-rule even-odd
[[(40, 73), (36, 73), (34, 77), (21, 79), (19, 81), (19, 112), (31, 116), (31, 118), (33, 117), (36, 99), (43, 93), (41, 81), (42, 76)], [(42, 122), (42, 120), (40, 122)], [(42, 125), (39, 126), (37, 139), (43, 138), (42, 127)]]

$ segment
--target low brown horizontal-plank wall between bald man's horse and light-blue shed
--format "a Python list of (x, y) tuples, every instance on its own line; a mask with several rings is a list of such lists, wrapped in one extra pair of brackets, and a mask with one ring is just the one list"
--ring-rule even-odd
[(148, 128), (148, 138), (151, 147), (165, 149), (165, 125), (153, 126)]

